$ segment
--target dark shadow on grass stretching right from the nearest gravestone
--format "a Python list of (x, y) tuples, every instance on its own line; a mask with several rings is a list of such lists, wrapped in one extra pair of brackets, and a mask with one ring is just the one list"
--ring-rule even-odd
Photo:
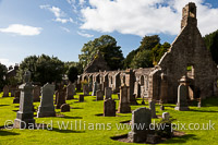
[(194, 134), (186, 134), (180, 137), (172, 137), (169, 141), (164, 142), (165, 144), (179, 144), (179, 143), (186, 143), (190, 140), (198, 140)]

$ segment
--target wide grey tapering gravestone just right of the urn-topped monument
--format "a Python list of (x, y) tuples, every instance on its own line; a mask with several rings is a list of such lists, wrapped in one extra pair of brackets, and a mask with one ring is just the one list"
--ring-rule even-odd
[(56, 117), (53, 106), (55, 85), (47, 83), (41, 87), (41, 99), (38, 107), (37, 118)]

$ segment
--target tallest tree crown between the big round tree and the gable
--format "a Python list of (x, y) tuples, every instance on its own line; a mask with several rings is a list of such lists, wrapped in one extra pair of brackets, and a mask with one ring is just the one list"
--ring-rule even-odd
[(140, 50), (152, 50), (156, 45), (160, 44), (158, 35), (145, 36), (141, 41)]

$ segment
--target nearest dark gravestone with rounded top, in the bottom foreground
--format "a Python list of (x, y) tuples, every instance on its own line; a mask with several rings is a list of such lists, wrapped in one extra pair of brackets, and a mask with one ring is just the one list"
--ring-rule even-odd
[[(132, 112), (132, 131), (129, 132), (129, 138), (133, 143), (142, 143), (147, 140), (149, 125), (152, 123), (152, 112), (143, 107)], [(144, 128), (138, 128), (138, 126)]]

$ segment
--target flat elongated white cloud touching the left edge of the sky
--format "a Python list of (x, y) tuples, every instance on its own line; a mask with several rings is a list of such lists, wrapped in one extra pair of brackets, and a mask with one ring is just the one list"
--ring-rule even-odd
[(22, 36), (34, 36), (41, 33), (41, 27), (33, 27), (22, 24), (11, 24), (7, 28), (0, 28), (1, 33), (12, 33)]

